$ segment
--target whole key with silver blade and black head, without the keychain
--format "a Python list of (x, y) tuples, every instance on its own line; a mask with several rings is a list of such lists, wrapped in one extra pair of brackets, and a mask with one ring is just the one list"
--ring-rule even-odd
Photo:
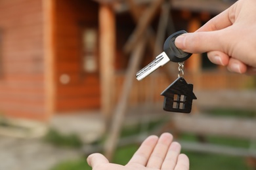
[(182, 51), (181, 49), (175, 46), (175, 39), (179, 35), (186, 33), (186, 31), (178, 31), (170, 35), (165, 43), (163, 44), (163, 52), (154, 59), (151, 63), (149, 63), (146, 67), (141, 69), (137, 74), (137, 80), (142, 80), (146, 76), (150, 75), (158, 69), (160, 66), (165, 65), (170, 60), (173, 62), (183, 62), (186, 59), (190, 58), (192, 54)]

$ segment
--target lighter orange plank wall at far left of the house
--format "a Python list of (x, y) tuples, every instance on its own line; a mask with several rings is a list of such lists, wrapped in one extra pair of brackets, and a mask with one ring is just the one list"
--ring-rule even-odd
[(1, 0), (0, 116), (45, 119), (41, 0)]

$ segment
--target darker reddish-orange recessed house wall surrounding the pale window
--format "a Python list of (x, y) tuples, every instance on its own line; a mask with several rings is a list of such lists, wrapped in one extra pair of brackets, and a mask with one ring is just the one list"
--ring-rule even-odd
[[(56, 0), (56, 111), (98, 109), (100, 82), (98, 74), (81, 71), (81, 24), (98, 24), (98, 5), (85, 0)], [(60, 76), (70, 76), (68, 84)]]

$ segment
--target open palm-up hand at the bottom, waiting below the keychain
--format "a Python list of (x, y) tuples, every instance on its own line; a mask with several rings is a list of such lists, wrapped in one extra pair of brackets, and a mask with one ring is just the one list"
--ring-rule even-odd
[(181, 154), (181, 145), (173, 142), (170, 133), (160, 138), (152, 135), (145, 139), (127, 165), (109, 163), (102, 154), (91, 154), (87, 162), (93, 170), (187, 170), (188, 157)]

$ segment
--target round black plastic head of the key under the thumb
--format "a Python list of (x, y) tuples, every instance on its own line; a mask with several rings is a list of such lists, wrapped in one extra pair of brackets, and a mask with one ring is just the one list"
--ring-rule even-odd
[(185, 61), (186, 59), (190, 58), (190, 56), (192, 55), (191, 53), (184, 52), (175, 46), (175, 39), (179, 35), (182, 35), (183, 33), (187, 33), (187, 32), (182, 30), (182, 31), (173, 33), (166, 39), (165, 43), (163, 44), (163, 51), (165, 52), (165, 54), (168, 56), (168, 58), (171, 61), (176, 63)]

